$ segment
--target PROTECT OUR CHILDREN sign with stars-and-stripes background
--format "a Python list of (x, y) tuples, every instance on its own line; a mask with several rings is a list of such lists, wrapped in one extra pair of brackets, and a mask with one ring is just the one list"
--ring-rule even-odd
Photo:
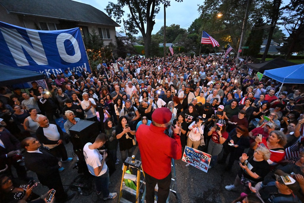
[(211, 155), (186, 146), (181, 160), (207, 173)]

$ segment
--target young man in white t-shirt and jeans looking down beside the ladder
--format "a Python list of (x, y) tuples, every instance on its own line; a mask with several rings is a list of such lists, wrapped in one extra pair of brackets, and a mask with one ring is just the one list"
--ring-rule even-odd
[(100, 133), (95, 142), (86, 143), (83, 148), (83, 155), (85, 162), (87, 163), (90, 174), (95, 176), (95, 185), (97, 195), (103, 194), (103, 200), (113, 199), (117, 196), (116, 192), (109, 192), (109, 169), (105, 163), (107, 153), (103, 151), (103, 156), (99, 153), (98, 148), (102, 147), (107, 141), (107, 136), (104, 133)]

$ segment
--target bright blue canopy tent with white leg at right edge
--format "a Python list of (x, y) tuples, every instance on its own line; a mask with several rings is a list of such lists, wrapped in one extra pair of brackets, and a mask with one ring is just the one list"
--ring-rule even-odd
[(264, 75), (282, 83), (304, 84), (304, 64), (264, 71)]

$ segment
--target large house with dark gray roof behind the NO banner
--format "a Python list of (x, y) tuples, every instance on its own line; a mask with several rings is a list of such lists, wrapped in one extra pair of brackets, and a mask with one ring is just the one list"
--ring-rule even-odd
[(38, 30), (80, 27), (84, 40), (95, 29), (104, 45), (116, 44), (120, 27), (95, 7), (71, 0), (0, 0), (0, 21)]

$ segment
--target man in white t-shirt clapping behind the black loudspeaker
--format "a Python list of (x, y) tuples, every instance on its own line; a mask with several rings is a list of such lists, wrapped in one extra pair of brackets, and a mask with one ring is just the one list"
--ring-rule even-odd
[(89, 95), (86, 92), (82, 93), (82, 98), (83, 98), (83, 101), (81, 101), (81, 107), (85, 112), (85, 118), (88, 121), (98, 122), (96, 110), (95, 110), (97, 105), (96, 105), (94, 99), (89, 98)]

